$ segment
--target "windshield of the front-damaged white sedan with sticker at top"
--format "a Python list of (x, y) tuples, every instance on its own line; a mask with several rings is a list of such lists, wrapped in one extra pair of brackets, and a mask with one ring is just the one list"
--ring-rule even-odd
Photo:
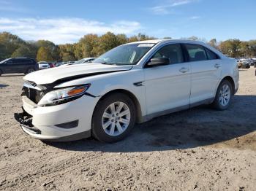
[(134, 65), (140, 58), (151, 50), (152, 43), (124, 44), (113, 48), (95, 59), (93, 63), (106, 63), (115, 65)]

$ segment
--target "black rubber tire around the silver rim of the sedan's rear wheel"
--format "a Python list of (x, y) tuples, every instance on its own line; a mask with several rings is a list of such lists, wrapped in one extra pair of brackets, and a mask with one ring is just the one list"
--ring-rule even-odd
[[(225, 105), (225, 106), (223, 106), (222, 104), (220, 104), (220, 101), (219, 101), (219, 98), (220, 98), (220, 96), (221, 96), (221, 95), (220, 95), (220, 91), (221, 91), (221, 89), (222, 89), (222, 87), (223, 87), (224, 85), (228, 85), (228, 87), (230, 88), (230, 99), (229, 99), (227, 105)], [(233, 98), (233, 87), (232, 87), (230, 81), (228, 81), (227, 79), (224, 79), (224, 80), (222, 80), (222, 82), (219, 84), (219, 87), (218, 87), (218, 89), (217, 89), (217, 93), (216, 93), (216, 95), (215, 95), (214, 102), (213, 102), (212, 105), (213, 105), (214, 108), (217, 109), (217, 110), (225, 110), (225, 109), (227, 109), (227, 108), (230, 106), (230, 103), (231, 103), (231, 101), (232, 101), (232, 98)]]

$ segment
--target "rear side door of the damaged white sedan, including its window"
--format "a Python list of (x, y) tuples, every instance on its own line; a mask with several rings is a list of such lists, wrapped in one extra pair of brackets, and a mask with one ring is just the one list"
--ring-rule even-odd
[(190, 104), (214, 98), (222, 73), (219, 56), (199, 44), (184, 44), (191, 63)]

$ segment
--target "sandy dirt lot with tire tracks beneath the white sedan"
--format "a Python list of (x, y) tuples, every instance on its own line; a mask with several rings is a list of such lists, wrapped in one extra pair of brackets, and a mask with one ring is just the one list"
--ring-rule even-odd
[(0, 77), (0, 190), (255, 190), (255, 69), (227, 111), (200, 106), (136, 125), (116, 144), (45, 144), (20, 129), (23, 76)]

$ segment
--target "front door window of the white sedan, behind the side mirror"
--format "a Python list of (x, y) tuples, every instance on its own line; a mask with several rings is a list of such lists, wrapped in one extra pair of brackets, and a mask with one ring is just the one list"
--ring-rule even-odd
[(152, 58), (169, 58), (170, 63), (184, 62), (181, 44), (169, 44), (162, 47)]

